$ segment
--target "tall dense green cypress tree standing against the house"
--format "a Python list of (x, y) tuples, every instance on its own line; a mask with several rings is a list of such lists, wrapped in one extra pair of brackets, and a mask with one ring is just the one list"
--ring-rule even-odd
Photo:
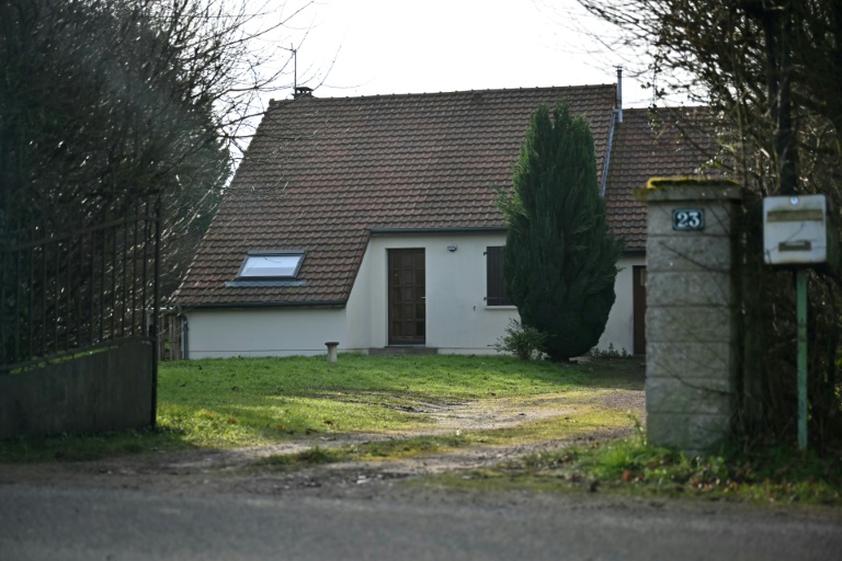
[(606, 221), (584, 117), (566, 103), (551, 115), (538, 107), (513, 187), (498, 201), (508, 226), (505, 290), (521, 322), (546, 334), (549, 357), (568, 360), (592, 348), (605, 330), (623, 250)]

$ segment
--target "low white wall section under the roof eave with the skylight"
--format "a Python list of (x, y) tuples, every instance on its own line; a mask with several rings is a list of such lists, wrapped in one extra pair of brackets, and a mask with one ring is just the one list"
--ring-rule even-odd
[(327, 354), (325, 343), (345, 341), (344, 308), (193, 308), (187, 358)]

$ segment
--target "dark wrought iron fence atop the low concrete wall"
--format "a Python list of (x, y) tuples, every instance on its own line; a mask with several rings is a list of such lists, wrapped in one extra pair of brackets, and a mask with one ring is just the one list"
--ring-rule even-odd
[(0, 374), (157, 340), (160, 210), (155, 197), (128, 217), (69, 233), (3, 237), (11, 243), (0, 245)]

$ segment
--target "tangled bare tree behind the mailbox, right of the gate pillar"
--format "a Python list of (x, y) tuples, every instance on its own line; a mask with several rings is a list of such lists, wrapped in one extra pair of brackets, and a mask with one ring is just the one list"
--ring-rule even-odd
[[(794, 288), (764, 267), (760, 198), (824, 193), (842, 206), (842, 4), (835, 0), (579, 0), (644, 53), (657, 100), (682, 92), (721, 117), (722, 151), (747, 186), (747, 434), (781, 434), (794, 411)], [(838, 274), (813, 274), (812, 422), (840, 434)]]

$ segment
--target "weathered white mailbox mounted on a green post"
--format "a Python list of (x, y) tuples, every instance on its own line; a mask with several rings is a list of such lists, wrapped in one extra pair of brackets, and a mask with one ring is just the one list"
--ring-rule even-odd
[(828, 261), (828, 203), (824, 195), (763, 199), (763, 260), (771, 265)]

